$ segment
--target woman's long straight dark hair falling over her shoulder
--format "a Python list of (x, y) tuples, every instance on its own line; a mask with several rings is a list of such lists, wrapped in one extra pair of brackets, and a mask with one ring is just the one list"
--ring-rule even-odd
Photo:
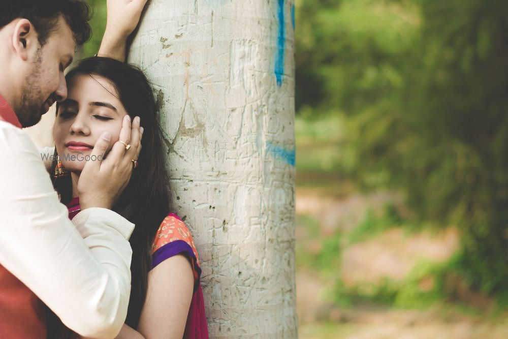
[[(125, 323), (137, 328), (146, 299), (153, 239), (169, 212), (168, 174), (162, 149), (162, 131), (156, 119), (157, 105), (148, 80), (134, 66), (110, 58), (91, 57), (80, 61), (67, 74), (67, 83), (79, 74), (98, 76), (109, 81), (125, 110), (131, 118), (139, 116), (144, 128), (139, 166), (113, 206), (115, 212), (136, 224), (129, 240), (133, 251), (132, 287)], [(52, 168), (55, 165), (56, 161)], [(53, 186), (61, 195), (61, 202), (69, 203), (72, 199), (70, 177), (53, 178)]]

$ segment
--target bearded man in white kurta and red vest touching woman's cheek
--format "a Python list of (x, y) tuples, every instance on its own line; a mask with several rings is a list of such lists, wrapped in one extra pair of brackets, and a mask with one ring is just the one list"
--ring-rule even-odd
[[(145, 1), (116, 0), (116, 9), (123, 6), (137, 22)], [(40, 153), (21, 130), (66, 99), (63, 70), (89, 38), (88, 19), (88, 7), (78, 0), (0, 3), (1, 338), (46, 337), (42, 302), (83, 336), (114, 337), (125, 320), (134, 225), (110, 209), (138, 159), (139, 121), (132, 129), (128, 118), (123, 121), (120, 140), (129, 149), (111, 135), (95, 145), (92, 155), (102, 159), (116, 141), (107, 159), (83, 169), (82, 211), (72, 222)], [(117, 49), (121, 29), (105, 39), (110, 51)], [(101, 49), (107, 54), (108, 44)]]

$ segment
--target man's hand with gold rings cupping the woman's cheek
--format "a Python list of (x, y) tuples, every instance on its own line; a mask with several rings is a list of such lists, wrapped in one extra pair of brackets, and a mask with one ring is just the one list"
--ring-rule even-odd
[(129, 115), (123, 118), (120, 140), (117, 141), (104, 159), (111, 141), (110, 133), (103, 133), (90, 154), (78, 180), (78, 194), (81, 209), (103, 207), (111, 209), (129, 183), (134, 168), (132, 160), (138, 160), (141, 150), (142, 129), (139, 117), (134, 118), (131, 128)]

